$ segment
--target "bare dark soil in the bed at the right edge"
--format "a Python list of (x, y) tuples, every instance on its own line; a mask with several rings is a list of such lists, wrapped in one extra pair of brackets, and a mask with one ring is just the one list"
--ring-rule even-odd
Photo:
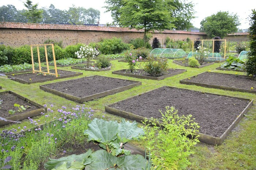
[[(256, 81), (252, 78), (235, 74), (222, 74), (215, 72), (204, 72), (202, 74), (186, 79), (188, 82), (212, 84), (217, 86), (242, 88), (246, 90), (256, 90)], [(251, 89), (253, 87), (253, 89)]]

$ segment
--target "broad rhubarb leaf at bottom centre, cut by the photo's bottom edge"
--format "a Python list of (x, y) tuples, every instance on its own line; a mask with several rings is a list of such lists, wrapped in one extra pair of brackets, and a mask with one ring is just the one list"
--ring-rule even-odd
[(108, 169), (108, 170), (141, 170), (145, 168), (147, 160), (142, 155), (124, 155), (115, 157), (105, 150), (98, 150), (91, 154), (94, 160), (86, 165), (86, 170)]

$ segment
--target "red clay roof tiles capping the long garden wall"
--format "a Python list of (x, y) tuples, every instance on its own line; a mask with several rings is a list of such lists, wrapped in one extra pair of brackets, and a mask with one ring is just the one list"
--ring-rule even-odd
[[(32, 24), (32, 23), (8, 23), (0, 22), (0, 28), (18, 28), (18, 29), (66, 29), (79, 31), (113, 31), (113, 32), (144, 32), (143, 29), (137, 30), (134, 28), (121, 27), (98, 27), (86, 25), (62, 25), (62, 24)], [(160, 32), (160, 31), (155, 31)], [(189, 31), (173, 31), (163, 30), (162, 33), (182, 33), (182, 34), (197, 34), (206, 35), (204, 32), (189, 32)]]

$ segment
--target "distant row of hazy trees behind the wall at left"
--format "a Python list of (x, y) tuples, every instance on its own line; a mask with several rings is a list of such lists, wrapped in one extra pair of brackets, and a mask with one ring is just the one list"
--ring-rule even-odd
[(48, 8), (38, 9), (38, 4), (33, 5), (30, 0), (24, 3), (27, 10), (17, 10), (14, 5), (0, 7), (0, 16), (5, 22), (41, 23), (41, 24), (96, 24), (100, 12), (97, 9), (83, 7), (69, 7), (60, 10), (50, 4)]

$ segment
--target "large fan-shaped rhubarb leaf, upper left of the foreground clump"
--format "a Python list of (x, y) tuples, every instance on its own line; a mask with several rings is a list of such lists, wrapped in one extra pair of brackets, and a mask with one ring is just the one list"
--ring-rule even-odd
[(88, 141), (97, 141), (103, 145), (108, 145), (117, 138), (118, 123), (116, 121), (107, 122), (95, 118), (88, 126), (89, 128), (84, 130), (84, 134), (88, 135)]

